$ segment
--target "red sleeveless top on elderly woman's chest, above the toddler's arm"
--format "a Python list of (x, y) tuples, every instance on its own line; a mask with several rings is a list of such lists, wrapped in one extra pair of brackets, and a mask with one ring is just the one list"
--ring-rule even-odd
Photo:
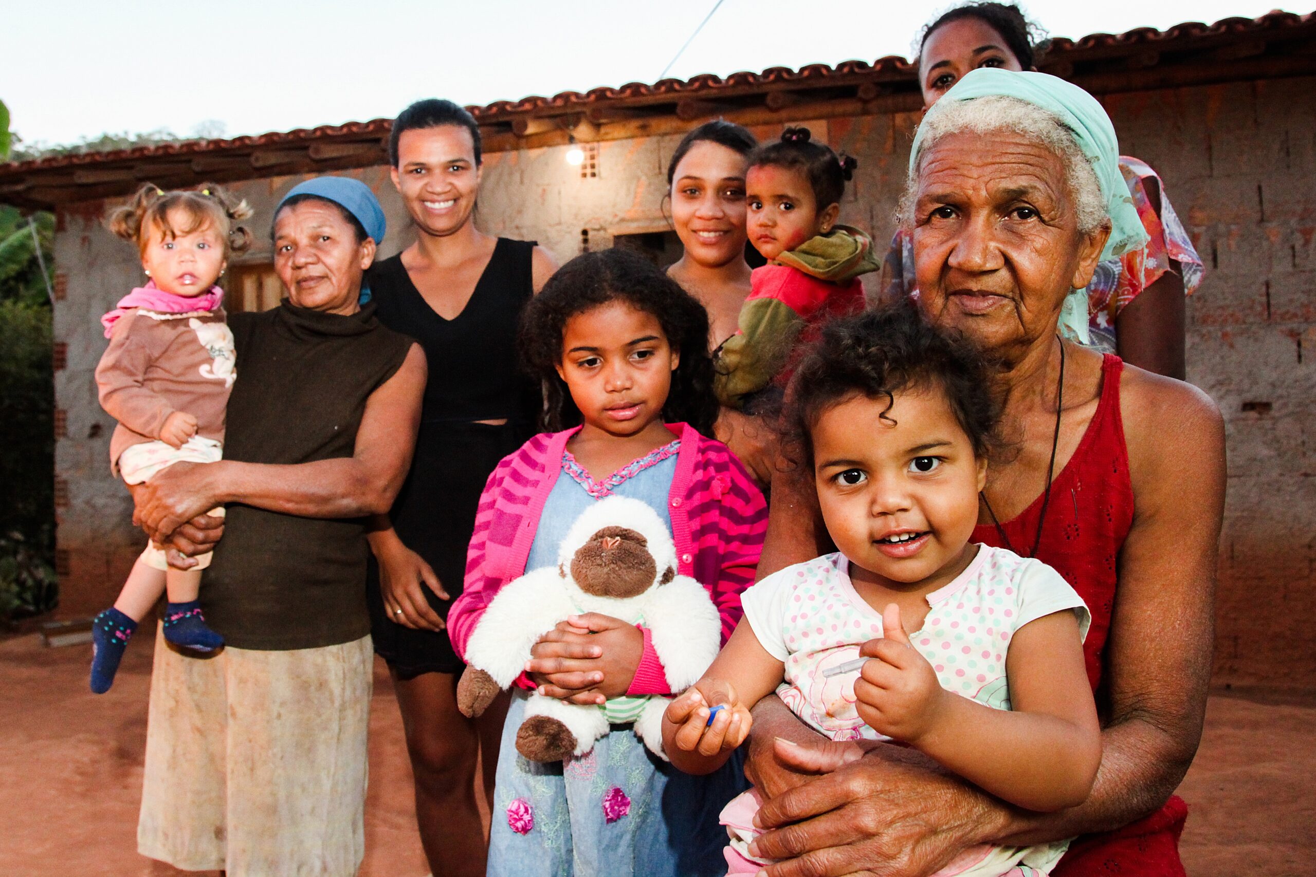
[[(1120, 417), (1120, 372), (1124, 362), (1107, 354), (1101, 362), (1101, 400), (1074, 456), (1051, 481), (1051, 501), (1042, 523), (1037, 559), (1053, 567), (1092, 613), (1083, 643), (1087, 678), (1101, 681), (1101, 652), (1111, 631), (1120, 547), (1133, 525), (1133, 484)], [(1042, 513), (1038, 496), (1013, 521), (1001, 522), (1009, 546), (991, 523), (974, 529), (974, 542), (1025, 552), (1037, 538)]]

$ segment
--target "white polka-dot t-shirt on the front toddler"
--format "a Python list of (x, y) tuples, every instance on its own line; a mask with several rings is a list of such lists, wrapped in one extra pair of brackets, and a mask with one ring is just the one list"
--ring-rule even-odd
[[(882, 636), (882, 614), (850, 581), (850, 561), (824, 555), (772, 573), (741, 594), (745, 621), (763, 648), (786, 664), (776, 694), (801, 721), (833, 740), (884, 739), (854, 709), (858, 671), (822, 672), (859, 656)], [(930, 611), (909, 642), (941, 686), (1000, 710), (1009, 709), (1009, 639), (1030, 621), (1071, 610), (1087, 636), (1091, 614), (1058, 572), (1005, 548), (979, 546), (950, 584), (928, 594)]]

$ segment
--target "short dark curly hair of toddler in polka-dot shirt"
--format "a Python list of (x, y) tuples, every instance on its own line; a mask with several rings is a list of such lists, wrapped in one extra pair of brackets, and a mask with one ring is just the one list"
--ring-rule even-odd
[(829, 408), (857, 396), (887, 400), (905, 389), (938, 387), (974, 454), (999, 448), (1000, 400), (991, 388), (991, 360), (965, 338), (933, 326), (917, 305), (899, 301), (833, 320), (805, 352), (786, 393), (783, 446), (795, 464), (813, 468), (811, 433)]

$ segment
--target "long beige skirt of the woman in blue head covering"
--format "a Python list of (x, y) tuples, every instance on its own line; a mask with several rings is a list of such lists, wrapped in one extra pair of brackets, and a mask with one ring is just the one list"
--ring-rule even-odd
[(370, 636), (197, 659), (155, 636), (137, 849), (228, 877), (351, 877), (365, 855)]

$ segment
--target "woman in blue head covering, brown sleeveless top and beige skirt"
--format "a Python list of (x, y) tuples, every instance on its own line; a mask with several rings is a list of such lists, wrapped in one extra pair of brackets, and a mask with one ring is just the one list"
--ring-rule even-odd
[(288, 297), (229, 320), (228, 456), (134, 496), (166, 540), (228, 508), (201, 585), (228, 646), (196, 660), (157, 638), (151, 675), (138, 849), (178, 868), (349, 877), (362, 861), (366, 529), (407, 476), (426, 375), (421, 350), (361, 304), (383, 235), (358, 180), (288, 192), (272, 234)]

